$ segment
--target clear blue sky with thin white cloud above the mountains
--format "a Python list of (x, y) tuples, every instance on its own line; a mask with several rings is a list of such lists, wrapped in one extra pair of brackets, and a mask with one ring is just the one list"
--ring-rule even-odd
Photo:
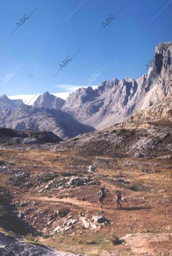
[(65, 98), (81, 86), (138, 78), (155, 46), (172, 41), (172, 0), (0, 3), (0, 94), (12, 98), (45, 91)]

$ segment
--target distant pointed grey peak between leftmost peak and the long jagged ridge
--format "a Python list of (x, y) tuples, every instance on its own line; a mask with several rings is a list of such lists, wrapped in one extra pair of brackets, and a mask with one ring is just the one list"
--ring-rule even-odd
[(64, 100), (58, 98), (49, 92), (45, 92), (43, 95), (40, 95), (36, 101), (34, 101), (33, 106), (35, 108), (55, 108), (56, 110), (60, 110), (64, 105)]

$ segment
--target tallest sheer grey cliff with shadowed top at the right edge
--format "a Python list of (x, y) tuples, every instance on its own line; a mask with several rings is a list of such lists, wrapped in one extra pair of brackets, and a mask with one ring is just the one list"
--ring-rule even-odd
[(138, 98), (135, 111), (144, 110), (165, 99), (172, 91), (172, 43), (158, 44), (153, 63)]

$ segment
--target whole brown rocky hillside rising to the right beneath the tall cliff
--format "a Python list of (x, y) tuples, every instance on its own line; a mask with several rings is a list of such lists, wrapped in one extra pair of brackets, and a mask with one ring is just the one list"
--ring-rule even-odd
[[(80, 135), (50, 146), (53, 151), (77, 150), (91, 155), (130, 157), (161, 157), (171, 159), (172, 150), (172, 93), (122, 123)], [(99, 145), (99, 146), (97, 146)]]

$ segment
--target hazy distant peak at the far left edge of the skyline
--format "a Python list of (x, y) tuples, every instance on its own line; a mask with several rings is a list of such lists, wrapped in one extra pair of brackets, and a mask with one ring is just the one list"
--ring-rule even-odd
[(6, 95), (0, 96), (0, 110), (9, 108), (13, 110), (23, 104), (22, 100), (10, 100)]

